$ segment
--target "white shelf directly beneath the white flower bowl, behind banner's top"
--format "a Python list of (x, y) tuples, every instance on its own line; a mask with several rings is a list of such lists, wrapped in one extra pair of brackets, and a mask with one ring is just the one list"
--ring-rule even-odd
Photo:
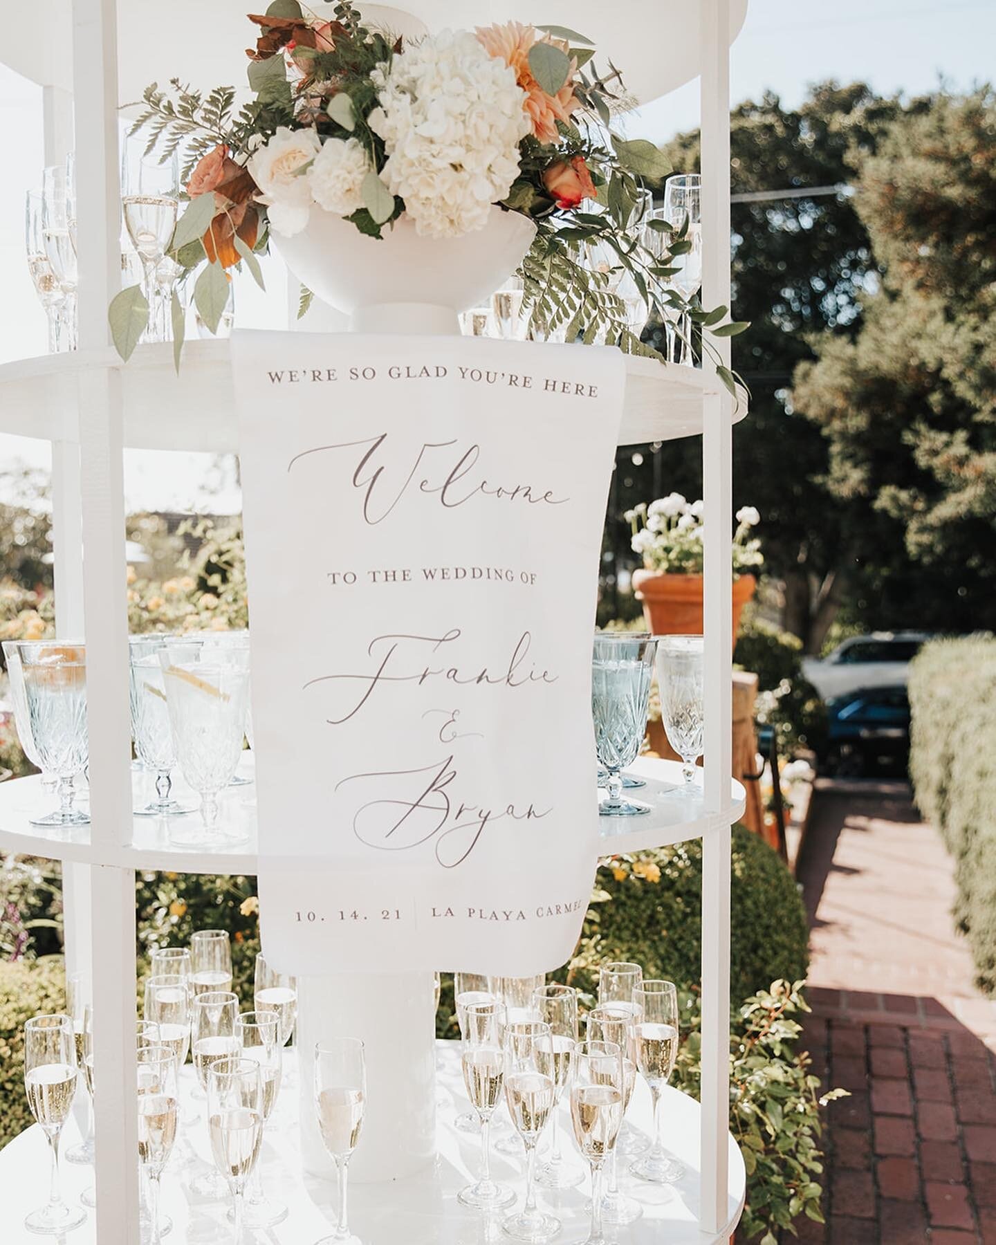
[[(111, 347), (41, 355), (0, 366), (0, 432), (42, 441), (77, 441), (77, 377), (113, 367), (122, 388), (125, 444), (134, 449), (238, 451), (235, 397), (229, 344), (190, 341), (179, 376), (168, 344), (138, 346), (122, 364)], [(626, 406), (620, 446), (672, 441), (702, 432), (702, 406), (718, 392), (715, 377), (700, 369), (667, 366), (654, 359), (626, 360)], [(747, 413), (746, 395), (733, 412)], [(565, 432), (569, 426), (565, 426)]]

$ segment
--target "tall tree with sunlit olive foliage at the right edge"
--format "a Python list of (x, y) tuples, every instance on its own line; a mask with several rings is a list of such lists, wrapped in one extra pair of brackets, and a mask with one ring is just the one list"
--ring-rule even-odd
[(884, 621), (996, 626), (996, 97), (939, 96), (858, 157), (881, 284), (823, 337), (793, 401)]

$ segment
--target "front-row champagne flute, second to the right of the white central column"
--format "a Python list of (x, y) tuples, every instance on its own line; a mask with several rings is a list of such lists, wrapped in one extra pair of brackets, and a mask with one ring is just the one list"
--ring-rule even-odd
[[(570, 1041), (561, 1038), (560, 1041)], [(550, 1026), (544, 1021), (513, 1021), (505, 1027), (504, 1089), (508, 1113), (525, 1147), (525, 1205), (502, 1224), (507, 1236), (520, 1241), (550, 1241), (560, 1231), (555, 1215), (537, 1206), (537, 1142), (557, 1101), (557, 1062)], [(570, 1059), (560, 1051), (560, 1062)]]

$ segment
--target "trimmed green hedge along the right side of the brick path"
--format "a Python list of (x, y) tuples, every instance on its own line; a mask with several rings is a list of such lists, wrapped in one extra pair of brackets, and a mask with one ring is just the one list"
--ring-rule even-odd
[(925, 645), (910, 667), (910, 778), (955, 860), (954, 916), (996, 995), (996, 640)]

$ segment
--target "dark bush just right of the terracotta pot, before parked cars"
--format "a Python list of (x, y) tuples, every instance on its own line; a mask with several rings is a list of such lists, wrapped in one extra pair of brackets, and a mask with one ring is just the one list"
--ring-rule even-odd
[(757, 720), (773, 726), (779, 756), (801, 747), (819, 752), (827, 736), (827, 708), (802, 672), (802, 640), (745, 610), (733, 662), (758, 677)]

